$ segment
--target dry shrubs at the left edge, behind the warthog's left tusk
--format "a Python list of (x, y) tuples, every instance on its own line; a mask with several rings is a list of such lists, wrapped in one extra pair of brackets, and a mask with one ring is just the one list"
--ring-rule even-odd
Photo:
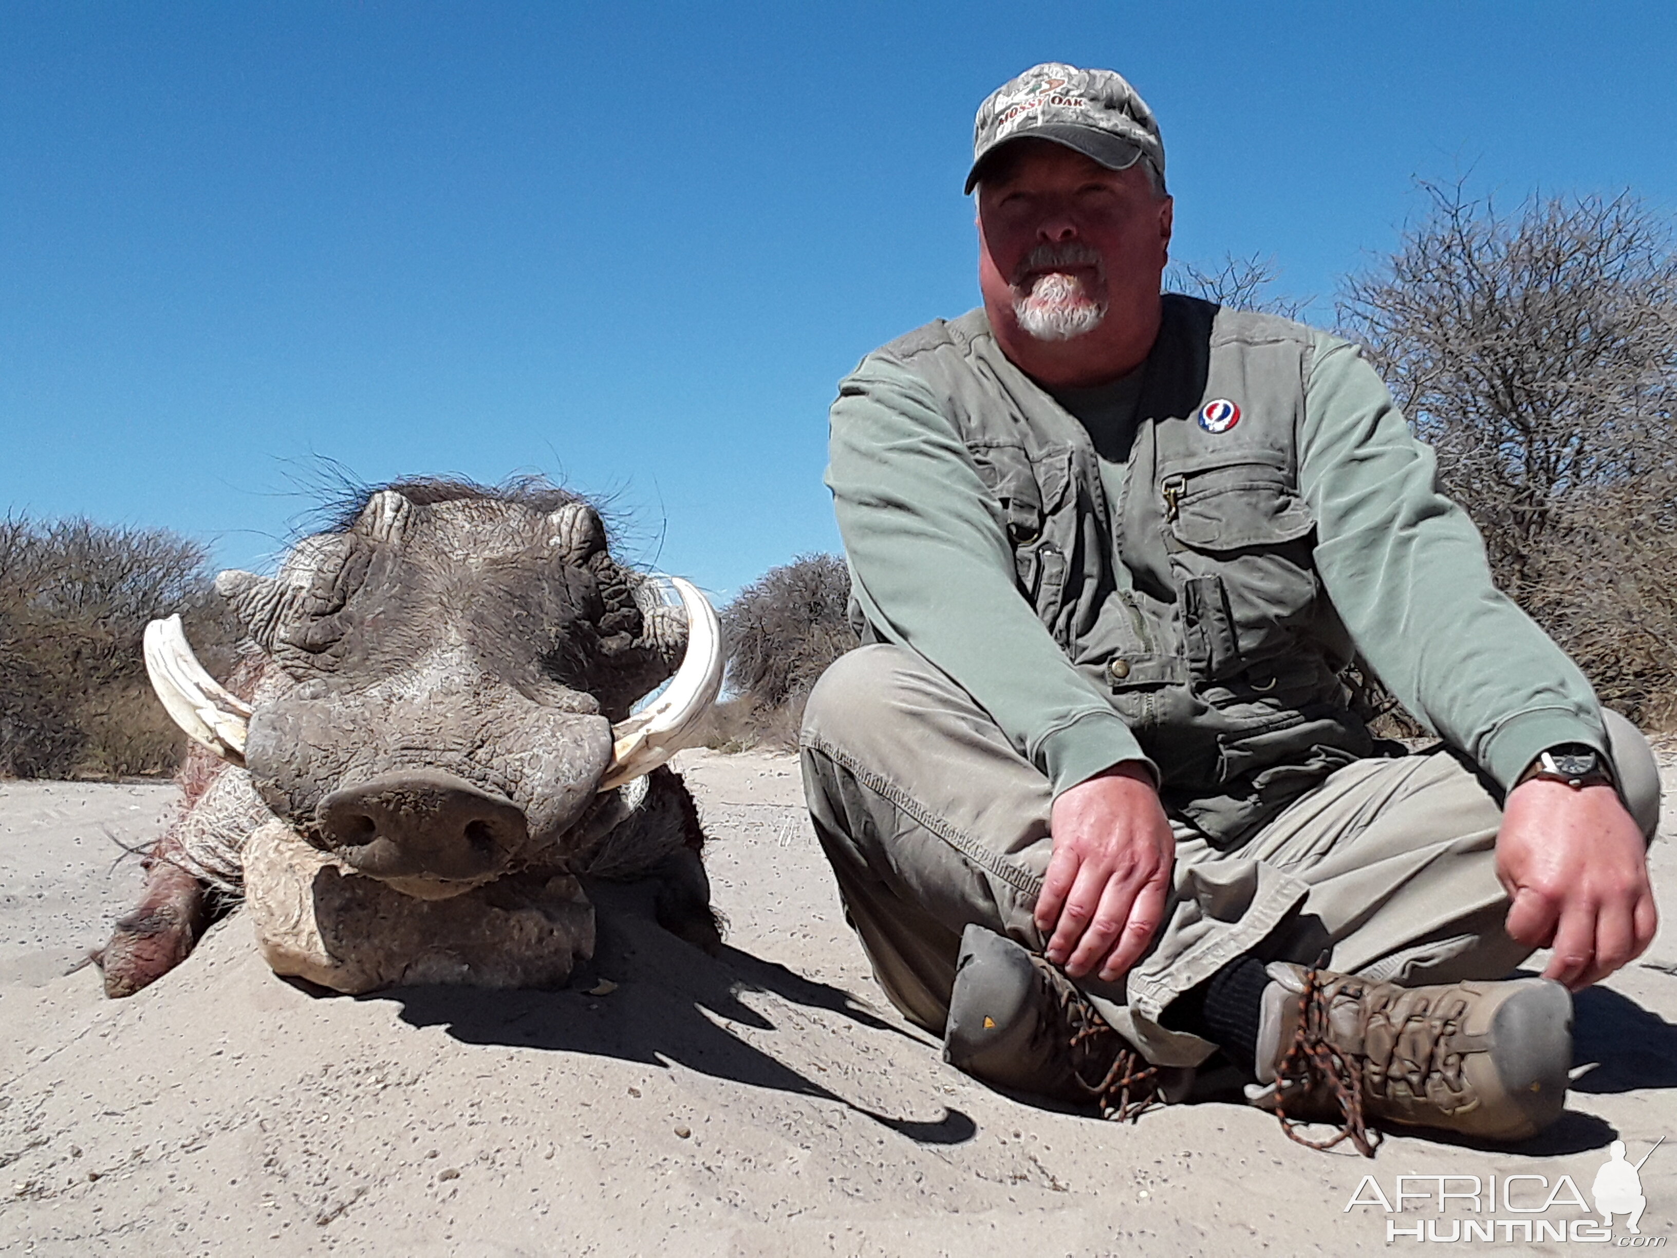
[(205, 552), (164, 530), (0, 520), (0, 775), (173, 772), (186, 738), (151, 696), (146, 622), (181, 612), (216, 669), (235, 631)]

